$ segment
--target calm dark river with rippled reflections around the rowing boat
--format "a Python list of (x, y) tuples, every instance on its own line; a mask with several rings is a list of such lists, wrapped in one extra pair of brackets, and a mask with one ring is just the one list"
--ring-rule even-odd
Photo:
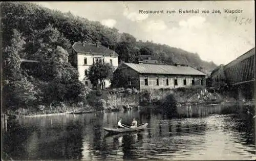
[[(20, 118), (2, 132), (2, 145), (13, 159), (255, 159), (251, 116), (223, 114), (220, 106), (205, 106), (200, 113), (179, 119), (141, 110)], [(136, 118), (148, 127), (106, 135), (103, 127), (115, 126), (119, 118), (127, 125)]]

